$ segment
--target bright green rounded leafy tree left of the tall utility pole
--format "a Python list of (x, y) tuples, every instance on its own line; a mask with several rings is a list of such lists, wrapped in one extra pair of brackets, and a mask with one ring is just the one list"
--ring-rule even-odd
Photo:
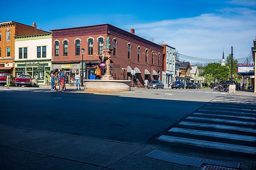
[(229, 69), (225, 66), (221, 66), (220, 63), (208, 63), (204, 68), (204, 72), (202, 72), (202, 76), (210, 74), (214, 80), (220, 82), (228, 79), (228, 73)]

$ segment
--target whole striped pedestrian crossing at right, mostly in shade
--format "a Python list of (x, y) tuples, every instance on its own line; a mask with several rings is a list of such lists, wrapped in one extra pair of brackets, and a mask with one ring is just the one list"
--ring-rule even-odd
[(158, 141), (256, 154), (256, 96), (225, 95), (182, 118)]

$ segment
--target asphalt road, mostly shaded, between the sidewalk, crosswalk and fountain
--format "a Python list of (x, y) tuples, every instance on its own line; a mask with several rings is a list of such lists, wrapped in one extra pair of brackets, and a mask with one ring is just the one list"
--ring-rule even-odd
[(102, 95), (74, 89), (64, 93), (0, 87), (4, 103), (0, 124), (142, 144), (224, 95), (212, 89), (178, 90), (137, 89)]

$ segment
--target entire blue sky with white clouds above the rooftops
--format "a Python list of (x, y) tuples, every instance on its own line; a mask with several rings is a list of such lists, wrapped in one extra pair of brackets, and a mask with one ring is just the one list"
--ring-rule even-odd
[[(145, 39), (176, 47), (179, 53), (221, 59), (234, 47), (247, 57), (256, 36), (255, 0), (220, 1), (13, 1), (15, 12), (1, 21), (17, 21), (42, 30), (109, 23), (135, 29)], [(107, 9), (108, 8), (108, 9)]]

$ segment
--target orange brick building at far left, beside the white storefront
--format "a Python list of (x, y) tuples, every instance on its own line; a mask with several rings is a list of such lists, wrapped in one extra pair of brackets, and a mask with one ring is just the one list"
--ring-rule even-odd
[(0, 73), (14, 74), (15, 43), (14, 37), (29, 34), (47, 33), (32, 26), (14, 21), (0, 22)]

